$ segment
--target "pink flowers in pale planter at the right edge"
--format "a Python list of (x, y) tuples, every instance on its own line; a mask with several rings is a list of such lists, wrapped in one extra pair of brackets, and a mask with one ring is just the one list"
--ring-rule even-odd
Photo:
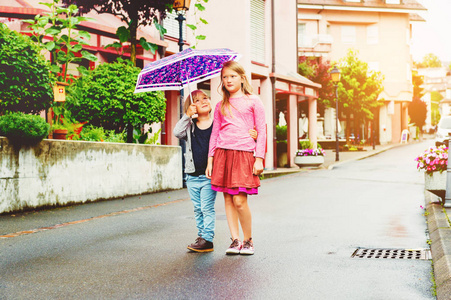
[(448, 164), (448, 147), (430, 147), (423, 154), (419, 155), (417, 169), (424, 170), (424, 188), (439, 195), (439, 192), (446, 190), (446, 168)]

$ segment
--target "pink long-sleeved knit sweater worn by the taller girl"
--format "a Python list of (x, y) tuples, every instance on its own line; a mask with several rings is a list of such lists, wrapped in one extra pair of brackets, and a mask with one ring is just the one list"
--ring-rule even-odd
[[(216, 148), (223, 148), (254, 152), (256, 157), (265, 158), (266, 121), (260, 98), (255, 95), (230, 98), (231, 116), (221, 114), (221, 103), (215, 108), (208, 156), (214, 156)], [(254, 126), (257, 142), (249, 135)]]

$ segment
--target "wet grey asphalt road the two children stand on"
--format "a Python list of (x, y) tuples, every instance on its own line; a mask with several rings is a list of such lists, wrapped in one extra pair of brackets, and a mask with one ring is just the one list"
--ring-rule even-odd
[(428, 248), (414, 158), (429, 145), (262, 181), (250, 257), (225, 255), (222, 195), (207, 254), (186, 250), (186, 190), (1, 215), (0, 299), (435, 299), (429, 260), (351, 258)]

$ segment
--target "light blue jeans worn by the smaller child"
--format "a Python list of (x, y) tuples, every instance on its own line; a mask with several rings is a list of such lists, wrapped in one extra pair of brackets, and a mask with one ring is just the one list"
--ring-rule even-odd
[(213, 242), (215, 235), (215, 200), (216, 191), (211, 189), (211, 180), (205, 175), (186, 174), (186, 187), (194, 204), (194, 218), (198, 236)]

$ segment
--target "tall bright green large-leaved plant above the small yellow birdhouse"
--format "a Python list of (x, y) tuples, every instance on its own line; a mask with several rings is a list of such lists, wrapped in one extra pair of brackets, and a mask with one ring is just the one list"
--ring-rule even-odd
[[(67, 68), (71, 62), (81, 61), (83, 58), (96, 61), (97, 57), (82, 50), (83, 45), (89, 45), (87, 41), (91, 35), (86, 31), (77, 30), (77, 25), (90, 19), (78, 16), (76, 5), (63, 7), (58, 6), (58, 2), (59, 0), (53, 0), (51, 3), (40, 2), (47, 6), (50, 12), (46, 12), (43, 16), (36, 15), (33, 20), (25, 22), (30, 23), (33, 40), (51, 53), (52, 72), (58, 74), (58, 80), (66, 82)], [(52, 39), (44, 41), (44, 36), (51, 36)], [(81, 57), (77, 57), (76, 53), (80, 53)]]

